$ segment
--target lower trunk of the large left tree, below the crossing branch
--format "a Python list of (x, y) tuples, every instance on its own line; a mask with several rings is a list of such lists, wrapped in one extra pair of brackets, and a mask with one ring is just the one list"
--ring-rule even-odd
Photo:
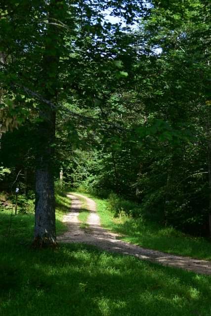
[[(48, 113), (49, 115), (49, 113)], [(53, 158), (55, 142), (55, 113), (51, 121), (38, 126), (40, 148), (36, 169), (36, 206), (34, 246), (56, 245)]]

